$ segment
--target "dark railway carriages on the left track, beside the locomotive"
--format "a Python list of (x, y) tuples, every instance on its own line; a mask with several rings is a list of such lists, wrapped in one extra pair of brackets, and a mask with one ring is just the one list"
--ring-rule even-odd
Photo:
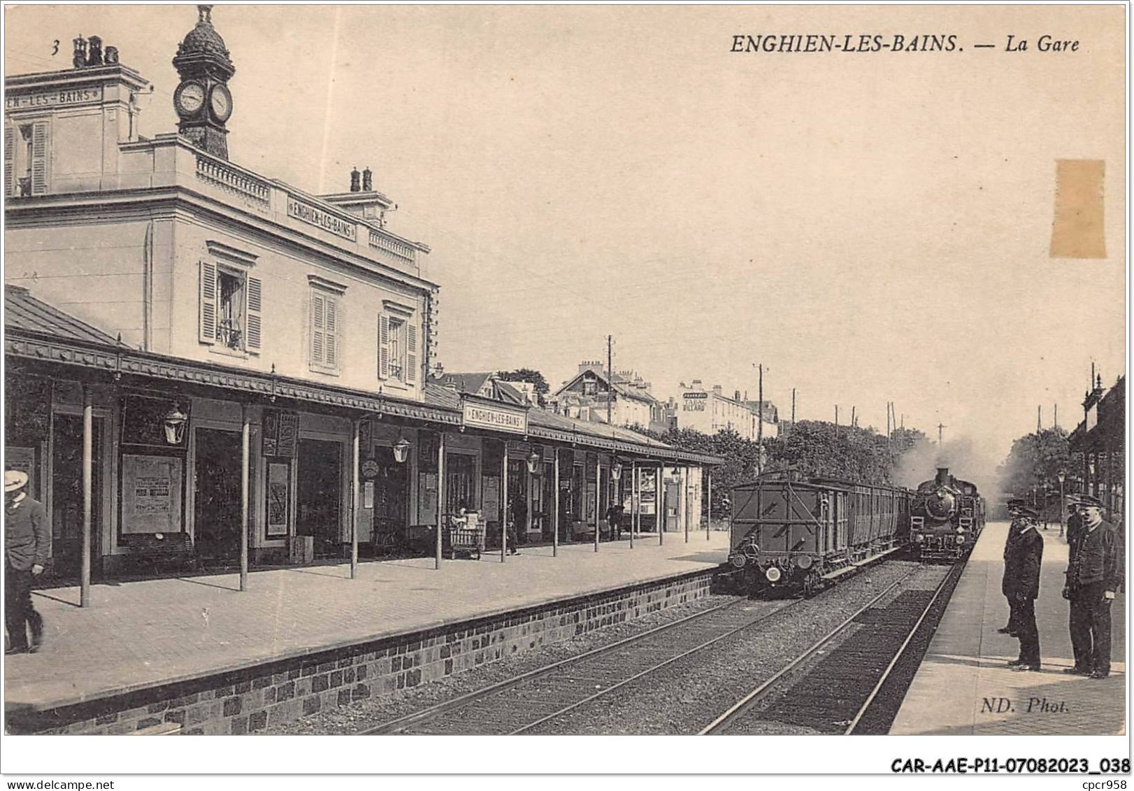
[(789, 588), (811, 596), (903, 548), (911, 493), (772, 472), (731, 490), (728, 561), (714, 588), (759, 592)]

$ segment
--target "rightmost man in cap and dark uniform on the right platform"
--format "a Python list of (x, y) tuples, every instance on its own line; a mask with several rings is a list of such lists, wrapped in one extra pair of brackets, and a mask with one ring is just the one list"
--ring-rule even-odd
[(1080, 497), (1082, 525), (1070, 539), (1067, 583), (1070, 601), (1070, 643), (1075, 666), (1064, 672), (1106, 679), (1110, 674), (1110, 603), (1123, 583), (1124, 547), (1114, 527), (1102, 519), (1102, 503)]

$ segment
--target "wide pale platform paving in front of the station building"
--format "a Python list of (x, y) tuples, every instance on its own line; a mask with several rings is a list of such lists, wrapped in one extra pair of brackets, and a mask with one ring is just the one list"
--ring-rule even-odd
[(5, 657), (6, 707), (51, 708), (162, 682), (430, 629), (636, 582), (712, 569), (728, 533), (523, 548), (500, 563), (433, 558), (101, 582), (34, 591), (43, 649)]

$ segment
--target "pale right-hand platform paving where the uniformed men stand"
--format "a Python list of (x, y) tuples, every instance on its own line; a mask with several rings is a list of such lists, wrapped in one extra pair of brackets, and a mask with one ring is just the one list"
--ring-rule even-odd
[[(1067, 544), (1058, 525), (1040, 531), (1043, 565), (1035, 620), (1041, 672), (1006, 666), (1019, 642), (997, 629), (1008, 620), (1000, 594), (1006, 522), (990, 523), (973, 548), (891, 734), (1111, 734), (1126, 724), (1126, 608), (1111, 605), (1111, 670), (1102, 680), (1065, 675), (1075, 664), (1061, 597)], [(991, 710), (989, 710), (991, 709)]]

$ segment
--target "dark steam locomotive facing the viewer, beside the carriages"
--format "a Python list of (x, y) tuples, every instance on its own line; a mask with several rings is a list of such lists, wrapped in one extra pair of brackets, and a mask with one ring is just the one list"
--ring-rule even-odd
[(984, 498), (976, 486), (941, 466), (933, 480), (917, 485), (909, 506), (909, 540), (926, 561), (964, 557), (984, 529)]

